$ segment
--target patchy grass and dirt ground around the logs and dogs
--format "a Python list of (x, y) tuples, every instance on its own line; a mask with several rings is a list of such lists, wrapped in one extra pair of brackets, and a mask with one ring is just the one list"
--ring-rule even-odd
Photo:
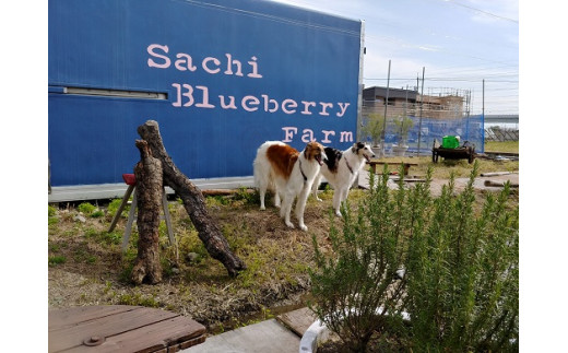
[[(518, 174), (492, 179), (518, 184)], [(458, 178), (457, 189), (465, 183), (466, 178)], [(439, 193), (445, 184), (445, 179), (434, 180), (433, 193)], [(476, 180), (476, 189), (487, 189), (484, 178)], [(322, 192), (323, 202), (311, 197), (308, 200), (307, 233), (286, 228), (273, 207), (260, 211), (251, 202), (223, 204), (220, 198), (209, 203), (208, 209), (235, 254), (247, 263), (247, 271), (236, 279), (228, 278), (225, 268), (211, 259), (202, 245), (200, 248), (191, 243), (196, 240), (189, 217), (181, 204), (171, 200), (179, 254), (168, 246), (164, 231), (161, 240), (167, 254), (163, 260), (164, 281), (139, 286), (128, 281), (135, 247), (131, 245), (127, 255), (120, 251), (126, 217), (118, 223), (118, 231), (108, 235), (111, 221), (106, 209), (108, 202), (99, 201), (99, 209), (107, 213), (100, 217), (80, 214), (76, 204), (58, 204), (49, 217), (55, 220), (50, 221), (48, 236), (49, 308), (105, 304), (159, 307), (193, 318), (212, 334), (303, 307), (309, 297), (312, 236), (326, 250), (330, 220), (338, 226), (342, 222), (330, 215), (332, 192)], [(357, 199), (362, 192), (365, 191), (352, 191), (350, 199)], [(297, 224), (294, 216), (293, 222)], [(188, 256), (190, 252), (193, 255)]]

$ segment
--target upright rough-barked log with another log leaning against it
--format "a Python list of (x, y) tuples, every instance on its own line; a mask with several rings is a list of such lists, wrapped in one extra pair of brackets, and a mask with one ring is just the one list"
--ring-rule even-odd
[(140, 162), (134, 167), (138, 198), (138, 258), (131, 279), (135, 284), (162, 282), (159, 263), (159, 210), (162, 205), (163, 173), (162, 162), (152, 156), (146, 141), (137, 140)]

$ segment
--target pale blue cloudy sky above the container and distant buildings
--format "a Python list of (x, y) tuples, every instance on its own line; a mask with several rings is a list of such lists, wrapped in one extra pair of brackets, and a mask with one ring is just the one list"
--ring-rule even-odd
[(424, 94), (471, 92), (472, 114), (519, 114), (518, 0), (276, 1), (363, 20), (366, 87), (387, 86), (390, 60), (390, 87), (414, 89), (424, 70)]

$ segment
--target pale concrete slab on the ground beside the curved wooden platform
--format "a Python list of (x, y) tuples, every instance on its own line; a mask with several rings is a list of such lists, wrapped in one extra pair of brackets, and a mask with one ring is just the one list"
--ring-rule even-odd
[(300, 338), (276, 319), (209, 337), (185, 353), (297, 353)]

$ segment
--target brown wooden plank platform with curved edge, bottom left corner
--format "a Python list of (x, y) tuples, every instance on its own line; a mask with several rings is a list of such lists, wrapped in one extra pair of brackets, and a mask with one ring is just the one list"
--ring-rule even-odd
[(129, 305), (51, 309), (48, 352), (177, 352), (205, 341), (205, 327), (171, 311)]

